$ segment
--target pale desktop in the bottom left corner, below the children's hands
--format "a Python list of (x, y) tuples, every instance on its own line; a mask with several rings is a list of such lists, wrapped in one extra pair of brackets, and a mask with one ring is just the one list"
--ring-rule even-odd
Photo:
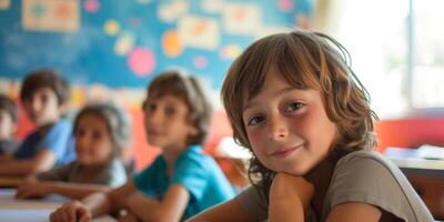
[[(42, 200), (16, 200), (14, 189), (0, 189), (0, 220), (8, 222), (47, 222), (49, 214), (69, 199), (51, 195)], [(94, 222), (115, 222), (109, 215), (100, 216)]]

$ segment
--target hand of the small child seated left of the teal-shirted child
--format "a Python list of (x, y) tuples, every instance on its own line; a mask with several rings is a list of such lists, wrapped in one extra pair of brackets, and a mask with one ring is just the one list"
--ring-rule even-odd
[(43, 198), (49, 193), (49, 188), (44, 182), (39, 182), (36, 179), (24, 180), (18, 188), (17, 199)]

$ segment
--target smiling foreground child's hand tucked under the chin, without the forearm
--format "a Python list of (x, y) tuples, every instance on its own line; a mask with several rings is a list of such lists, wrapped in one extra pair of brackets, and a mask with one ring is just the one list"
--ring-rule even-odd
[(270, 188), (270, 201), (300, 203), (304, 212), (310, 210), (314, 186), (302, 176), (278, 173)]

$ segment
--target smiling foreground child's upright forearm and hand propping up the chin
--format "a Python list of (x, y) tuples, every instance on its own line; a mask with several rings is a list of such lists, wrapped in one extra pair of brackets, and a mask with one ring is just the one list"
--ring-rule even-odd
[(313, 193), (302, 176), (278, 173), (270, 188), (270, 221), (304, 221)]

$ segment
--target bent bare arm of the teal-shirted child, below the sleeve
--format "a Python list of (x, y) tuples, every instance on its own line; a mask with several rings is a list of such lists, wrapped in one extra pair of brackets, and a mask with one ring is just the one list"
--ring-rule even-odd
[(135, 192), (125, 201), (125, 206), (142, 221), (179, 221), (189, 200), (190, 193), (184, 186), (172, 184), (162, 201)]

